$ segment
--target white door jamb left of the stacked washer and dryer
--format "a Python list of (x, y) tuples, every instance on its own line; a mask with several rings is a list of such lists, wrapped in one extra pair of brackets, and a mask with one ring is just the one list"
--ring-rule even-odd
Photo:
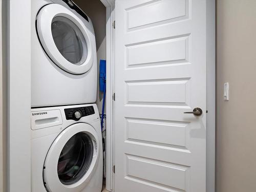
[(8, 192), (31, 191), (31, 1), (7, 1)]

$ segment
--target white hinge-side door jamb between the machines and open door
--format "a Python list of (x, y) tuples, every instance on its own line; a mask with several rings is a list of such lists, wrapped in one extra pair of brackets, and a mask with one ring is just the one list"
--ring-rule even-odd
[(106, 7), (106, 189), (114, 191), (115, 0), (100, 0)]

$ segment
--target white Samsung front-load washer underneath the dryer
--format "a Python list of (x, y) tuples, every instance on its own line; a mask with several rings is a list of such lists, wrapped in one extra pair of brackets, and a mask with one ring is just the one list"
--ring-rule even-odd
[(100, 192), (102, 137), (96, 104), (31, 111), (32, 192)]

